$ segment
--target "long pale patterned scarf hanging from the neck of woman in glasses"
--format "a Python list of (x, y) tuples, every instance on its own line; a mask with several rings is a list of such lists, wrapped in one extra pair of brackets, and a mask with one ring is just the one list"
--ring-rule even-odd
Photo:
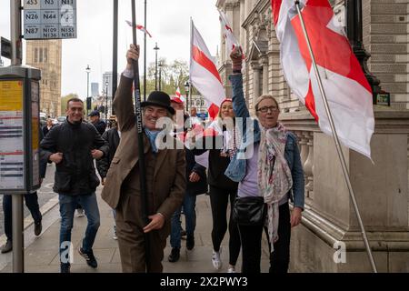
[(284, 125), (278, 123), (273, 128), (261, 127), (258, 155), (258, 189), (267, 204), (267, 219), (271, 251), (278, 239), (278, 203), (293, 186), (291, 170), (285, 160), (284, 150), (287, 135)]

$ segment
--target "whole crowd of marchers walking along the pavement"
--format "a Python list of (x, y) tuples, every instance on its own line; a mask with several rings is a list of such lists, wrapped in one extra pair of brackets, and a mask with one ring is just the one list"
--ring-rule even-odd
[[(259, 273), (265, 233), (270, 272), (288, 271), (291, 228), (300, 224), (304, 209), (304, 173), (297, 139), (278, 121), (280, 108), (273, 95), (258, 97), (255, 118), (251, 117), (244, 98), (241, 50), (235, 48), (230, 57), (233, 96), (224, 99), (217, 117), (207, 124), (196, 116), (195, 108), (190, 115), (185, 112), (181, 99), (154, 91), (141, 103), (143, 128), (138, 128), (133, 61), (139, 58), (139, 48), (131, 45), (109, 126), (97, 111), (86, 121), (83, 101), (72, 98), (67, 101), (65, 121), (57, 125), (50, 121), (43, 127), (42, 176), (46, 164), (54, 163), (62, 273), (69, 273), (73, 262), (75, 210), (84, 211), (87, 219), (76, 251), (88, 266), (98, 266), (93, 245), (101, 223), (95, 194), (100, 184), (104, 186), (102, 199), (113, 210), (113, 234), (123, 272), (161, 273), (168, 236), (172, 246), (169, 262), (177, 264), (182, 236), (186, 236), (185, 247), (195, 251), (195, 202), (202, 194), (210, 198), (213, 220), (209, 234), (213, 251), (204, 264), (213, 264), (215, 270), (224, 267), (221, 244), (228, 230), (225, 272)], [(35, 235), (40, 236), (37, 196), (25, 196), (25, 203), (35, 220)], [(9, 196), (4, 196), (3, 206), (7, 242), (2, 253), (6, 253), (13, 246)], [(240, 254), (242, 266), (236, 266)]]

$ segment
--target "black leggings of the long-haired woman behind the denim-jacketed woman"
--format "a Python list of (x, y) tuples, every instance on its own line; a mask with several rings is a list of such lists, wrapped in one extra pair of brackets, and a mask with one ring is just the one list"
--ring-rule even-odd
[(227, 204), (230, 198), (230, 218), (229, 218), (229, 264), (235, 266), (240, 255), (240, 235), (237, 224), (232, 219), (232, 209), (234, 199), (237, 196), (237, 189), (228, 190), (210, 186), (210, 205), (212, 207), (213, 229), (212, 242), (214, 251), (220, 250), (225, 232), (227, 231)]

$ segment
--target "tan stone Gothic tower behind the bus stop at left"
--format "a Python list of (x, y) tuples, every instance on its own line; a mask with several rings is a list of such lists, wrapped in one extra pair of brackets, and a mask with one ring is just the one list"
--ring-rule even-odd
[(29, 40), (25, 55), (27, 65), (41, 70), (41, 112), (51, 117), (61, 115), (61, 39)]

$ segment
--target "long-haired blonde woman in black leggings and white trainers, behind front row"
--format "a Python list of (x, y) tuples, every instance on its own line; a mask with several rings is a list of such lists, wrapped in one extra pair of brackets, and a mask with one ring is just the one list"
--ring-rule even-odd
[[(240, 255), (240, 236), (237, 225), (232, 221), (231, 216), (227, 217), (228, 203), (230, 201), (232, 207), (237, 195), (237, 183), (224, 175), (224, 171), (234, 156), (240, 140), (234, 123), (232, 99), (226, 98), (220, 105), (218, 117), (206, 129), (206, 132), (213, 132), (211, 137), (207, 137), (212, 139), (212, 143), (209, 143), (212, 145), (212, 149), (209, 150), (208, 163), (208, 184), (213, 218), (212, 263), (216, 270), (222, 268), (222, 249), (220, 246), (227, 231), (228, 221), (230, 238), (227, 273), (235, 273), (235, 264)], [(200, 141), (197, 141), (196, 145), (200, 143)], [(206, 142), (205, 144), (208, 145)], [(193, 152), (198, 156), (204, 154), (207, 150), (196, 148)]]

